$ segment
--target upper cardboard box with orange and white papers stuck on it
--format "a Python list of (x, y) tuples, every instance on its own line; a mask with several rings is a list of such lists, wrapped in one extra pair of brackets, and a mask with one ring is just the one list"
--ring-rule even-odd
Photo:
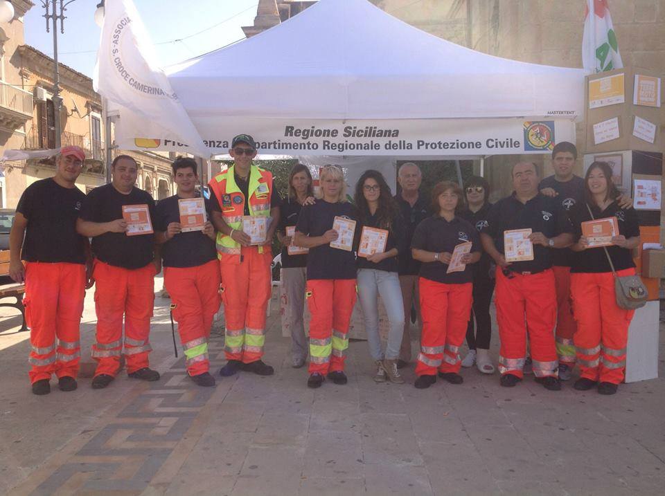
[[(660, 107), (650, 107), (646, 104), (634, 104), (635, 75), (650, 78), (660, 78), (659, 96)], [(623, 85), (621, 84), (623, 75)], [(586, 153), (603, 153), (605, 151), (619, 151), (637, 149), (641, 151), (662, 151), (664, 136), (663, 80), (665, 75), (657, 71), (641, 68), (621, 68), (614, 71), (597, 73), (585, 77), (585, 151)], [(601, 82), (602, 84), (601, 84)], [(602, 87), (601, 87), (602, 86)], [(623, 86), (623, 98), (621, 98)], [(639, 86), (640, 87), (640, 86)], [(644, 96), (644, 95), (643, 95)], [(644, 103), (643, 96), (638, 100)], [(656, 97), (657, 98), (657, 97)], [(620, 102), (623, 99), (623, 102)], [(619, 103), (611, 103), (619, 102)], [(589, 106), (594, 108), (589, 108)], [(635, 118), (648, 121), (655, 125), (655, 138), (653, 143), (633, 135)], [(598, 143), (594, 140), (594, 125), (617, 118), (619, 120), (619, 138)], [(644, 124), (644, 123), (643, 123)], [(644, 127), (641, 127), (644, 129)]]

